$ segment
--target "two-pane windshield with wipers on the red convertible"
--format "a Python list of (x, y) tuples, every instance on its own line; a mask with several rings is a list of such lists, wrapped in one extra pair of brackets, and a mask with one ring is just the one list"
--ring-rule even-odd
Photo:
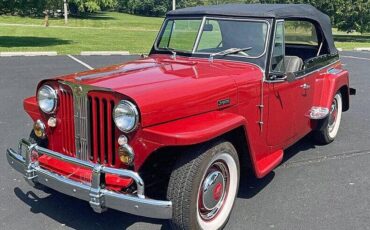
[[(202, 19), (168, 19), (156, 48), (195, 54), (222, 53), (223, 56), (238, 55), (247, 58), (259, 57), (265, 52), (268, 33), (266, 21), (207, 18), (204, 25), (202, 23)], [(231, 49), (240, 51), (224, 52)]]

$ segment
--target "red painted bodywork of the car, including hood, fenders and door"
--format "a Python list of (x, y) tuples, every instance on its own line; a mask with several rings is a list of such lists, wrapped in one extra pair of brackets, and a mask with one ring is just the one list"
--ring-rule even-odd
[[(307, 116), (310, 108), (329, 108), (335, 92), (348, 87), (348, 72), (329, 74), (331, 68), (341, 65), (335, 63), (294, 82), (270, 83), (258, 66), (246, 62), (151, 55), (54, 80), (109, 89), (117, 93), (117, 100), (129, 98), (137, 104), (140, 128), (129, 136), (137, 153), (136, 171), (162, 147), (198, 144), (242, 127), (260, 178), (281, 162), (284, 149), (314, 128), (315, 122)], [(311, 88), (305, 90), (303, 84)], [(220, 106), (220, 100), (229, 103)], [(24, 108), (33, 120), (41, 117), (47, 123), (35, 97), (26, 99)], [(58, 126), (48, 132), (49, 147), (60, 149), (58, 140), (63, 137)], [(62, 164), (58, 160), (45, 164), (65, 167), (58, 166)]]

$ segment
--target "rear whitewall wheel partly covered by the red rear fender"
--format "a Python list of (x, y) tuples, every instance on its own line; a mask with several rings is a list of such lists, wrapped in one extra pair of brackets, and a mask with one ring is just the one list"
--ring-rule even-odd
[(338, 92), (333, 99), (329, 110), (329, 115), (321, 124), (321, 129), (315, 131), (314, 138), (320, 144), (329, 144), (334, 141), (338, 135), (343, 110), (342, 95)]

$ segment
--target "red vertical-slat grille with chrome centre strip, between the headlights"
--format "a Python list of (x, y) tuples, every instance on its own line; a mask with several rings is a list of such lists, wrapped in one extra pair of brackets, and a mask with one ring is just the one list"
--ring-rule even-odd
[(68, 86), (60, 90), (62, 152), (81, 160), (119, 167), (112, 117), (114, 94), (72, 82), (61, 83)]

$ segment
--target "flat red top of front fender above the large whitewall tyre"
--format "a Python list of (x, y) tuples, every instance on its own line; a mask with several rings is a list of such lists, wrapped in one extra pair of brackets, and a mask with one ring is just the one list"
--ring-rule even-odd
[(209, 141), (237, 127), (245, 118), (213, 111), (143, 129), (143, 137), (164, 146), (193, 145)]

